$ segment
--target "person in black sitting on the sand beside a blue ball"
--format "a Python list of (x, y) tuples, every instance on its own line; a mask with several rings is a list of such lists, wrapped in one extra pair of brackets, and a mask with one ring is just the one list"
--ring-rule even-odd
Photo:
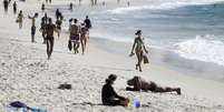
[(115, 74), (110, 74), (108, 79), (106, 79), (106, 84), (101, 89), (101, 100), (104, 105), (123, 105), (127, 106), (129, 100), (118, 95), (114, 88), (111, 86), (117, 77)]

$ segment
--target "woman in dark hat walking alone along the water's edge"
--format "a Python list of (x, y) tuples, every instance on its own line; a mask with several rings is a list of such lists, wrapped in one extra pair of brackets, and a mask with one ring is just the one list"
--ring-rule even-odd
[[(137, 55), (136, 70), (139, 69), (139, 71), (142, 72), (142, 65), (140, 64), (143, 62), (144, 51), (146, 53), (148, 53), (148, 51), (146, 50), (145, 44), (143, 42), (142, 30), (137, 30), (137, 32), (135, 33), (135, 35), (137, 35), (137, 37), (135, 38), (135, 41), (133, 43), (133, 49), (132, 49), (130, 55), (134, 55), (134, 54)], [(135, 53), (133, 52), (134, 49), (135, 49)]]

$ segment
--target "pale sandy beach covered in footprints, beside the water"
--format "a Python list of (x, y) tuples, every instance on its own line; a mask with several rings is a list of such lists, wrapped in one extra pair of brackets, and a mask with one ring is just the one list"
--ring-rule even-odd
[[(22, 4), (25, 13), (38, 7), (38, 0)], [(33, 9), (35, 10), (35, 9)], [(6, 16), (0, 10), (0, 111), (10, 112), (6, 105), (21, 101), (30, 106), (51, 112), (224, 112), (224, 83), (187, 77), (163, 67), (144, 65), (135, 71), (135, 58), (104, 51), (90, 41), (85, 55), (69, 52), (67, 34), (55, 40), (52, 59), (47, 60), (46, 45), (37, 31), (37, 43), (30, 42), (30, 20), (18, 29), (12, 9)], [(39, 18), (40, 19), (40, 18)], [(39, 24), (39, 19), (37, 24)], [(39, 29), (39, 28), (38, 28)], [(140, 100), (143, 106), (104, 106), (101, 86), (115, 73), (116, 91), (130, 99)], [(185, 75), (184, 75), (185, 74)], [(183, 95), (171, 93), (127, 92), (126, 81), (134, 75), (158, 82), (160, 85), (179, 86)], [(58, 90), (61, 83), (72, 84), (71, 90)]]

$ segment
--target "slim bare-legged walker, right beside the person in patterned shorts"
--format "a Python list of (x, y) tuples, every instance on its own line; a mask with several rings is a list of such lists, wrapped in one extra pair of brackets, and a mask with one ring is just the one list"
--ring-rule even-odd
[(88, 28), (86, 28), (85, 23), (81, 23), (80, 42), (81, 42), (82, 54), (86, 50), (87, 39), (88, 39)]

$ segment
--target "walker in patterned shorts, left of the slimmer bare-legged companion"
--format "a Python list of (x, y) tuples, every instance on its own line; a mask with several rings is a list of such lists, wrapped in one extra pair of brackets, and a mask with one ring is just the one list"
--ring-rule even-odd
[(78, 53), (79, 39), (80, 39), (80, 27), (78, 26), (78, 20), (74, 19), (74, 24), (70, 26), (70, 41), (74, 43), (74, 52)]

